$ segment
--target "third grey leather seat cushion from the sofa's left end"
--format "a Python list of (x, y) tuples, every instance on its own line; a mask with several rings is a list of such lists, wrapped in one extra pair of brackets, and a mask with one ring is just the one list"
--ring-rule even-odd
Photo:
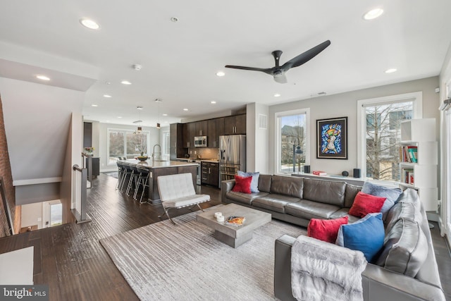
[(290, 203), (285, 206), (285, 212), (292, 216), (303, 219), (329, 219), (340, 207), (320, 202), (312, 202), (301, 199), (299, 202)]

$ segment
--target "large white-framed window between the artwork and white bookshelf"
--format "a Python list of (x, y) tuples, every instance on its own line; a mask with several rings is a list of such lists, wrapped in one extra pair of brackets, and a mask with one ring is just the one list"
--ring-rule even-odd
[(400, 123), (413, 116), (421, 118), (421, 92), (361, 100), (358, 107), (362, 174), (375, 180), (399, 181)]

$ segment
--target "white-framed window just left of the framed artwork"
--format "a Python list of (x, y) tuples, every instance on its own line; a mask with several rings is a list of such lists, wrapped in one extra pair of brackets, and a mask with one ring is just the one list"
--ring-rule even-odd
[(309, 162), (309, 109), (276, 113), (276, 170), (299, 173)]

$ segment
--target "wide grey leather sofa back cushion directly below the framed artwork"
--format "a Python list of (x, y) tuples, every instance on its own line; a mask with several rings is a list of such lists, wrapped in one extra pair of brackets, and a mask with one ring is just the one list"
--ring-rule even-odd
[(304, 178), (303, 199), (345, 207), (345, 182)]

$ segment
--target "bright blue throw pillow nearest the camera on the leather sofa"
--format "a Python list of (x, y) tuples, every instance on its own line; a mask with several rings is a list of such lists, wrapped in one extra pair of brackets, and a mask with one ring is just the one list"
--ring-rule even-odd
[(382, 214), (378, 212), (366, 214), (363, 219), (359, 219), (355, 223), (341, 225), (335, 243), (351, 250), (363, 252), (366, 260), (372, 262), (383, 247), (384, 238)]

